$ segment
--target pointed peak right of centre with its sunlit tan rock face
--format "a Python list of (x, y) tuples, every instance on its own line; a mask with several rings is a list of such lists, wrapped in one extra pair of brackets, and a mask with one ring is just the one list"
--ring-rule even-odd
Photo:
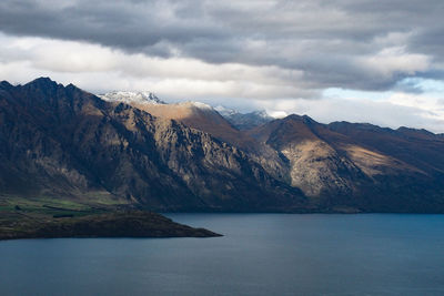
[(316, 135), (311, 124), (309, 118), (292, 115), (256, 127), (251, 135), (287, 159), (291, 185), (307, 196), (352, 195), (357, 180), (364, 175), (352, 161)]

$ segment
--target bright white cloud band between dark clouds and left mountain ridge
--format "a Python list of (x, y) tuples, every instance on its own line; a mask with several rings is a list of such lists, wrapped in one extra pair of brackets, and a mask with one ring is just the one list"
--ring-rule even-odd
[[(92, 92), (151, 90), (171, 100), (311, 98), (302, 73), (274, 65), (212, 64), (193, 58), (125, 53), (98, 44), (0, 34), (0, 79), (26, 83), (38, 75)], [(23, 74), (26, 73), (26, 74)], [(34, 75), (34, 76), (33, 76)]]

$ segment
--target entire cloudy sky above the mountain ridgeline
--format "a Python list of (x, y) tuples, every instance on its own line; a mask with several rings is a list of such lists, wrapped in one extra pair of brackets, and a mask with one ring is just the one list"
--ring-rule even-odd
[(442, 0), (2, 0), (0, 80), (444, 133)]

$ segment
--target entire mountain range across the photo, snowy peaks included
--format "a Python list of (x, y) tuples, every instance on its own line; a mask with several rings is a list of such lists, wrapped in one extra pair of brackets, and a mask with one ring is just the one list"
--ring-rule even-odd
[(0, 195), (153, 211), (444, 213), (444, 135), (0, 82)]

